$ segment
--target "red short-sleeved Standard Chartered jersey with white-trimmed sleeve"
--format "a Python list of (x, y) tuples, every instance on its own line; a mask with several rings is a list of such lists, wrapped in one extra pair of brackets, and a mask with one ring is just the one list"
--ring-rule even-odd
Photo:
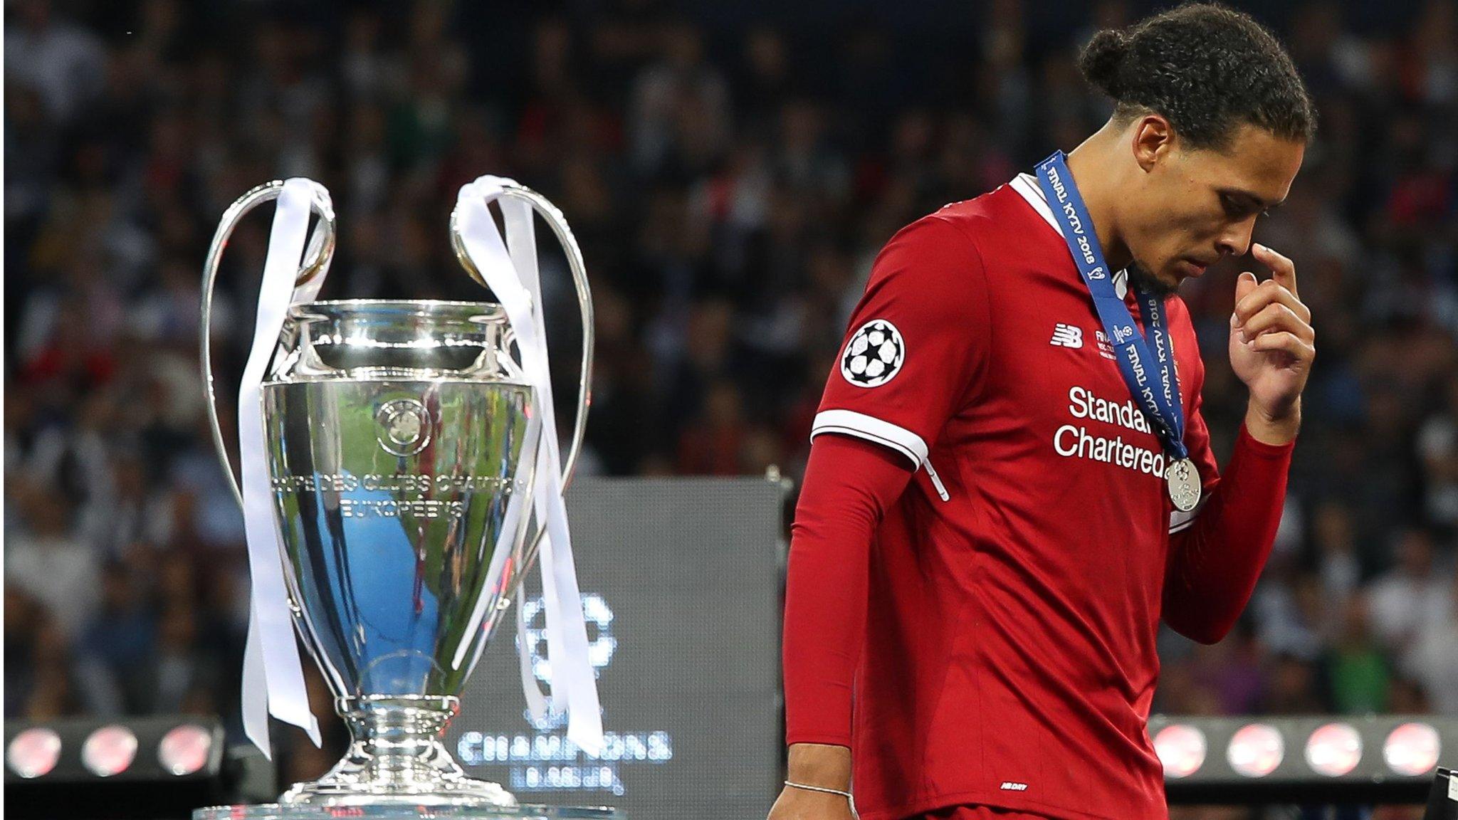
[[(1204, 369), (1187, 308), (1166, 306), (1209, 498)], [(872, 546), (862, 817), (986, 804), (1163, 819), (1145, 724), (1168, 534), (1193, 517), (1169, 503), (1159, 438), (1032, 177), (885, 247), (815, 417), (812, 436), (827, 432), (917, 467)]]

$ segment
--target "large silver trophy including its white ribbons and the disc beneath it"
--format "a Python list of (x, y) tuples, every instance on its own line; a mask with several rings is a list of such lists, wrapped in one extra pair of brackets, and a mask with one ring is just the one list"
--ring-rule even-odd
[[(502, 786), (468, 778), (440, 740), (539, 554), (555, 620), (551, 665), (560, 667), (553, 703), (566, 703), (577, 746), (590, 751), (601, 741), (561, 506), (586, 425), (593, 343), (586, 270), (567, 223), (529, 188), (483, 177), (461, 191), (451, 242), (499, 303), (319, 302), (335, 238), (328, 191), (276, 181), (235, 201), (207, 257), (201, 324), (208, 413), (229, 479), (208, 360), (213, 286), (233, 228), (268, 200), (278, 206), (239, 391), (242, 480), (233, 487), (252, 575), (243, 722), (265, 753), (268, 713), (318, 743), (296, 627), (351, 743), (324, 778), (296, 784), (278, 804), (203, 808), (194, 819), (620, 819), (611, 808), (521, 805)], [(566, 463), (553, 422), (534, 210), (566, 251), (582, 311)], [(312, 213), (318, 223), (305, 244)], [(535, 686), (528, 702), (541, 711)]]

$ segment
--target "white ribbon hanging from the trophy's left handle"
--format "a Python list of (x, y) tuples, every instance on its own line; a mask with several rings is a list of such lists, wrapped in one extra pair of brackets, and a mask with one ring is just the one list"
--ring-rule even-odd
[(274, 515), (268, 454), (264, 444), (262, 381), (278, 349), (278, 334), (290, 305), (312, 302), (324, 285), (328, 263), (295, 287), (309, 231), (311, 203), (330, 207), (324, 185), (292, 178), (284, 182), (268, 235), (254, 346), (238, 388), (238, 444), (242, 473), (243, 528), (248, 535), (248, 643), (243, 649), (243, 732), (270, 756), (268, 715), (293, 724), (319, 746), (319, 724), (309, 711), (303, 664), (293, 635), (289, 592), (283, 575), (283, 537)]

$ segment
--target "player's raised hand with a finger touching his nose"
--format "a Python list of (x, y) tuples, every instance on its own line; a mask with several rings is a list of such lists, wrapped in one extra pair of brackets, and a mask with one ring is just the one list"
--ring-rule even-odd
[(1296, 293), (1296, 266), (1266, 245), (1251, 252), (1271, 268), (1242, 273), (1231, 315), (1231, 368), (1251, 391), (1245, 428), (1266, 444), (1287, 444), (1301, 428), (1301, 391), (1317, 356), (1311, 311)]

